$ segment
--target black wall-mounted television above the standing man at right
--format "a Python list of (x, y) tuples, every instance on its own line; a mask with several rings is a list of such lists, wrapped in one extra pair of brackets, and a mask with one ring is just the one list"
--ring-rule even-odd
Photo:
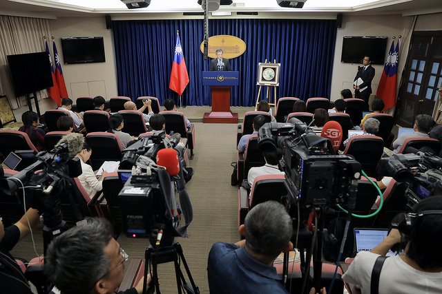
[(340, 61), (362, 63), (364, 55), (369, 54), (372, 56), (372, 64), (384, 64), (386, 50), (386, 36), (345, 36)]

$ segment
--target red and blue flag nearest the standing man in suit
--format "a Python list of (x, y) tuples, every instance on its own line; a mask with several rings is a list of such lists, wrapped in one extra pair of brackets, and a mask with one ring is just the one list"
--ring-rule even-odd
[(384, 101), (385, 108), (390, 109), (396, 105), (396, 87), (399, 59), (399, 40), (394, 49), (394, 41), (388, 52), (387, 61), (385, 61), (384, 71), (382, 72), (381, 81), (379, 82), (376, 96)]

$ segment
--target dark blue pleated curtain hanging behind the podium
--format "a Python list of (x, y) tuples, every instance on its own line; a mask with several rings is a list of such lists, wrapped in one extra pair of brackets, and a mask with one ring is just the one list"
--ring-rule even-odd
[[(113, 21), (118, 95), (155, 96), (162, 104), (177, 94), (169, 89), (176, 32), (189, 72), (183, 105), (211, 105), (210, 88), (203, 87), (200, 43), (204, 22), (198, 20)], [(215, 19), (209, 21), (209, 36), (229, 34), (242, 39), (247, 49), (231, 60), (240, 72), (240, 85), (231, 91), (231, 105), (252, 106), (258, 95), (258, 63), (265, 59), (281, 64), (276, 96), (330, 98), (336, 20)], [(273, 89), (271, 96), (273, 97)], [(263, 93), (264, 92), (264, 93)], [(267, 93), (262, 87), (261, 98)]]

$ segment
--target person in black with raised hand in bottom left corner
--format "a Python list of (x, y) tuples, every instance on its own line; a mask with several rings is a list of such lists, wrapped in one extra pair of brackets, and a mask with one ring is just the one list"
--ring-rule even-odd
[(1, 293), (33, 293), (30, 284), (28, 284), (28, 280), (26, 280), (19, 265), (9, 253), (19, 240), (30, 233), (28, 220), (32, 229), (35, 229), (40, 223), (40, 216), (37, 213), (37, 209), (28, 209), (26, 214), (28, 216), (27, 219), (26, 216), (23, 216), (18, 222), (6, 229), (3, 227), (3, 222), (0, 221)]

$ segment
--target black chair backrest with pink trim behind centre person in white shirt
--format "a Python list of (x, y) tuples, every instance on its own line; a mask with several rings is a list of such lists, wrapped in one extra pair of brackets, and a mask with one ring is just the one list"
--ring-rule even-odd
[(287, 196), (285, 175), (257, 176), (250, 191), (249, 207), (269, 200), (281, 202), (282, 196)]

